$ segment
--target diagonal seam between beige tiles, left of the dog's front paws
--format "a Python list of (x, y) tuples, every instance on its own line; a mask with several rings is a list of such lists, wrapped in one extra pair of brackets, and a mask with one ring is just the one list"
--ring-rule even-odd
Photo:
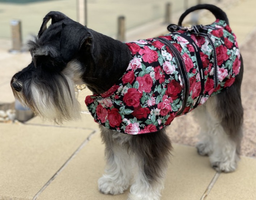
[(44, 186), (35, 194), (32, 200), (36, 200), (40, 194), (51, 184), (52, 181), (63, 171), (63, 169), (73, 160), (73, 158), (77, 155), (78, 152), (81, 151), (82, 148), (85, 147), (85, 145), (91, 140), (91, 137), (96, 133), (97, 131), (94, 130), (90, 133), (90, 135), (82, 142), (82, 144), (72, 153), (72, 155), (68, 158), (67, 161), (64, 162), (64, 164), (56, 171), (56, 173), (44, 184)]

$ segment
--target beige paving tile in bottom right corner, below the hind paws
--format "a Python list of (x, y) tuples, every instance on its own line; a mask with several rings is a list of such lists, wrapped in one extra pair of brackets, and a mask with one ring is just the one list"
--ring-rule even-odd
[(256, 159), (242, 157), (233, 173), (222, 173), (207, 200), (255, 200)]

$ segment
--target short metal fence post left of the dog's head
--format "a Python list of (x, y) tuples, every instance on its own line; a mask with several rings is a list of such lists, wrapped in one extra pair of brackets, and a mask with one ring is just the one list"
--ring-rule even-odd
[(10, 51), (21, 51), (21, 21), (18, 19), (13, 19), (10, 21), (10, 25), (12, 29), (12, 49)]

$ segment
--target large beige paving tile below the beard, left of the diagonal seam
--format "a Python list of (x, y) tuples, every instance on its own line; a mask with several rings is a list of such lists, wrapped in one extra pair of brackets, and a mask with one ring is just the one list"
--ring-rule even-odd
[(32, 199), (91, 132), (0, 123), (0, 199)]

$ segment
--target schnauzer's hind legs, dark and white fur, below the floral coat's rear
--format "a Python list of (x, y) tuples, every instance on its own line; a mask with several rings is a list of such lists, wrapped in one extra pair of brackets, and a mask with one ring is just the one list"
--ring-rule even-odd
[[(241, 62), (242, 63), (242, 62)], [(201, 127), (207, 125), (206, 137), (197, 144), (201, 155), (209, 155), (211, 165), (217, 171), (230, 172), (236, 169), (242, 140), (243, 107), (240, 86), (243, 65), (234, 84), (220, 94), (210, 97), (203, 105), (205, 118)], [(203, 130), (202, 129), (202, 130)], [(204, 131), (203, 131), (204, 132)]]

